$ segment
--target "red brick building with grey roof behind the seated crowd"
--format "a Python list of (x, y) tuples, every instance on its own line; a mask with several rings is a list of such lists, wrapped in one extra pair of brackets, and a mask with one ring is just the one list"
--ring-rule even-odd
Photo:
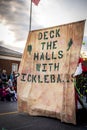
[(12, 71), (18, 71), (22, 53), (0, 46), (0, 71), (5, 69), (10, 75)]

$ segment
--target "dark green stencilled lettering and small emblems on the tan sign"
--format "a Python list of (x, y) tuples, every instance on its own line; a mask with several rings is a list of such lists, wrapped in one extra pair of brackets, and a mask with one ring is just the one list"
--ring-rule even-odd
[[(73, 82), (72, 75), (69, 75), (68, 73), (56, 73), (56, 71), (58, 72), (60, 69), (59, 60), (62, 59), (64, 55), (62, 49), (58, 50), (58, 37), (61, 37), (59, 28), (38, 33), (38, 41), (41, 41), (41, 52), (33, 53), (33, 61), (35, 61), (34, 63), (36, 66), (35, 71), (38, 72), (38, 74), (21, 73), (21, 81), (28, 81), (32, 83)], [(54, 40), (54, 38), (56, 38), (56, 40)], [(69, 43), (67, 44), (66, 51), (70, 49), (72, 43), (72, 39), (70, 39)], [(31, 54), (32, 49), (32, 45), (28, 45), (29, 54)], [(37, 63), (38, 61), (39, 63)], [(50, 74), (48, 74), (48, 72), (50, 72)]]

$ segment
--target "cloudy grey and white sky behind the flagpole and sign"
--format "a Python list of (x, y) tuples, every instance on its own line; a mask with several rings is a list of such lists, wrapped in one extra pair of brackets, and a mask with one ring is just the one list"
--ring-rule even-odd
[[(86, 19), (87, 0), (40, 0), (32, 3), (31, 30)], [(24, 49), (30, 24), (30, 0), (0, 0), (0, 44)]]

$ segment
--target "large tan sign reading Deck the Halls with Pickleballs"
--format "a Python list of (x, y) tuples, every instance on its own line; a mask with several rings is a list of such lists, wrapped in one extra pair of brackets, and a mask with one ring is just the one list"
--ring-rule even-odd
[(85, 21), (29, 33), (18, 77), (18, 110), (76, 123), (73, 74)]

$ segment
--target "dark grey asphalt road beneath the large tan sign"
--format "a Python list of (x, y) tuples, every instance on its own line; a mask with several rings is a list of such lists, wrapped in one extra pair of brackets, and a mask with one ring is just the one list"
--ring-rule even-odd
[(77, 125), (58, 119), (18, 113), (17, 102), (0, 101), (0, 130), (87, 130), (87, 110), (77, 112)]

